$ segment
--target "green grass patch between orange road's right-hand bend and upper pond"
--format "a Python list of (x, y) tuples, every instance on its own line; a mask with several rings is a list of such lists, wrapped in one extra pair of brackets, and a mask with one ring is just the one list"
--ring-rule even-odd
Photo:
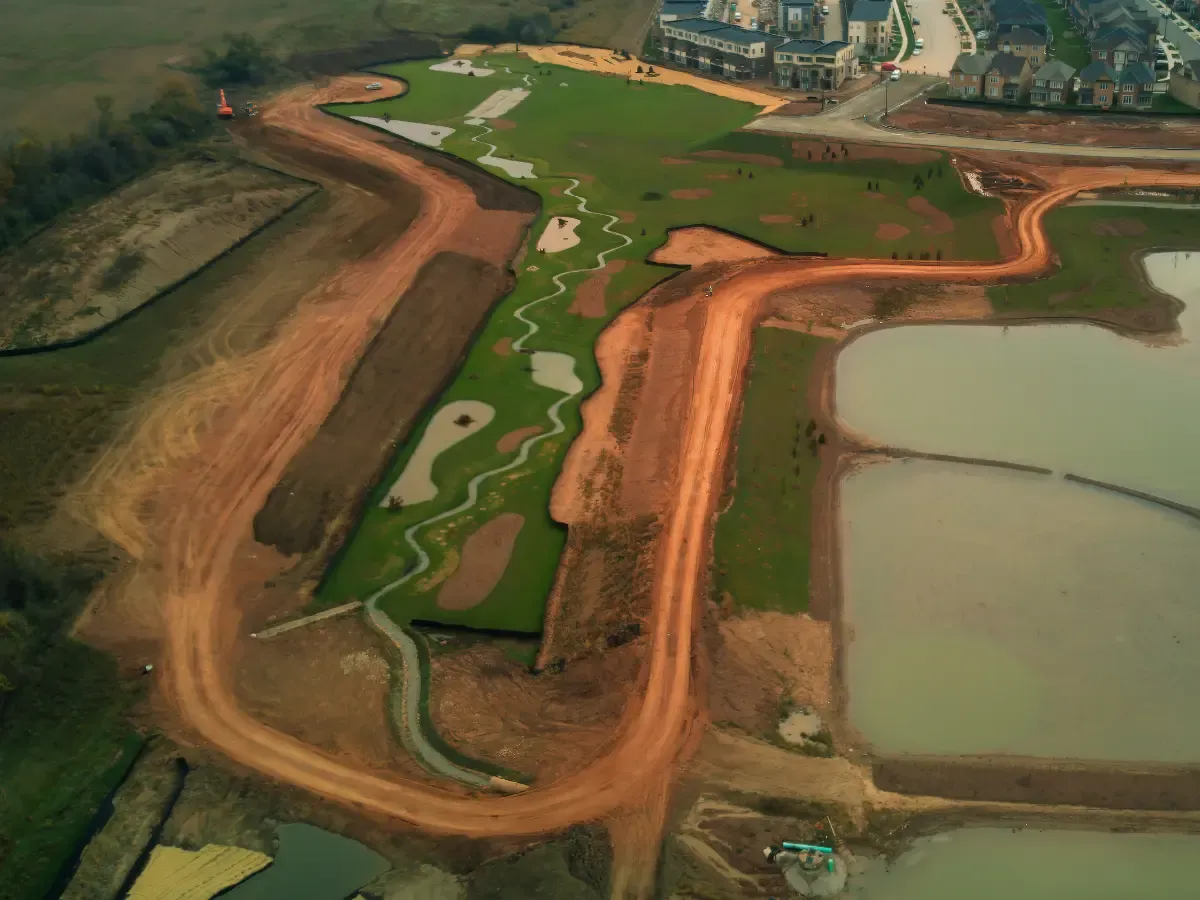
[[(1098, 234), (1105, 223), (1140, 222), (1142, 234)], [(1136, 206), (1064, 206), (1046, 216), (1050, 244), (1062, 268), (1028, 284), (988, 289), (996, 310), (1103, 310), (1140, 306), (1147, 295), (1133, 254), (1150, 247), (1194, 246), (1200, 239), (1195, 210)]]

